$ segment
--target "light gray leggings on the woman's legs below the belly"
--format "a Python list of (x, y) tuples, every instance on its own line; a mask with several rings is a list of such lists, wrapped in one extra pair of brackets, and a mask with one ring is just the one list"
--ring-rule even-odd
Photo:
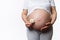
[(51, 40), (53, 34), (53, 28), (48, 32), (42, 33), (37, 30), (30, 30), (27, 28), (27, 38), (28, 40)]

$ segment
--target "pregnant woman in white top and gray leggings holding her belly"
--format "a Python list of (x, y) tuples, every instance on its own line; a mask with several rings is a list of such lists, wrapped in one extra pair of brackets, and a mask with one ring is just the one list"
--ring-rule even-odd
[(28, 40), (51, 40), (56, 18), (54, 0), (25, 0), (22, 19)]

